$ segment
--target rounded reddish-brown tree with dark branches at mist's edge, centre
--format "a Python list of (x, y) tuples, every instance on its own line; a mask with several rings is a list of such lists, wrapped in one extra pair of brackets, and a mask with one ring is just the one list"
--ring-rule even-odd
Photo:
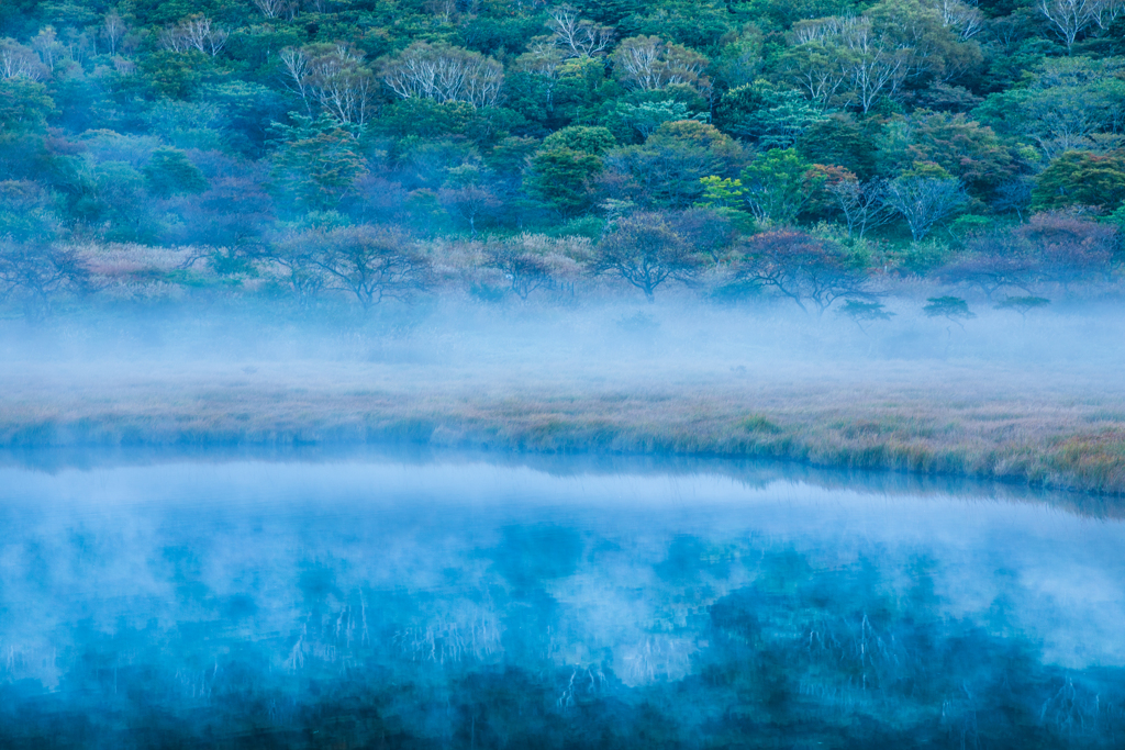
[(615, 273), (637, 287), (648, 301), (669, 279), (691, 281), (700, 257), (663, 214), (639, 213), (619, 218), (602, 235), (594, 273)]

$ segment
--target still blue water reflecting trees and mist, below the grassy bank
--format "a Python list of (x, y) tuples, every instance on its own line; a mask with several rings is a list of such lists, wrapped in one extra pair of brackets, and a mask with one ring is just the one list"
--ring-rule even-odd
[(0, 747), (1120, 748), (1125, 523), (776, 464), (7, 457)]

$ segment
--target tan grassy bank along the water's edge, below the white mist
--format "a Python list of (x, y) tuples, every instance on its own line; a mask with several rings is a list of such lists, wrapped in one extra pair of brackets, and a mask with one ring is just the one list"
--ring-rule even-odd
[[(1125, 494), (1125, 399), (1073, 391), (966, 395), (901, 382), (714, 380), (659, 387), (484, 382), (406, 387), (226, 373), (7, 382), (0, 446), (443, 448), (782, 459)], [(410, 379), (405, 379), (407, 382)], [(971, 389), (970, 389), (971, 390)], [(1089, 392), (1089, 391), (1087, 391)]]

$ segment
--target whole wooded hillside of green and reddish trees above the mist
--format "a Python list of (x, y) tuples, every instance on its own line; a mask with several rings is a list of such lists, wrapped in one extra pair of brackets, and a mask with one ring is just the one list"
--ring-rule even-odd
[[(0, 299), (1118, 288), (1120, 0), (6, 0)], [(922, 295), (925, 296), (925, 295)], [(1012, 317), (1014, 320), (1018, 319)]]

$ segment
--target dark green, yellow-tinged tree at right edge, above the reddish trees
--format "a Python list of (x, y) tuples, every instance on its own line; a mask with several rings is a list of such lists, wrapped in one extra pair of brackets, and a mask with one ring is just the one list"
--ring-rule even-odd
[(1036, 178), (1032, 209), (1090, 206), (1113, 210), (1125, 201), (1125, 157), (1068, 151)]

